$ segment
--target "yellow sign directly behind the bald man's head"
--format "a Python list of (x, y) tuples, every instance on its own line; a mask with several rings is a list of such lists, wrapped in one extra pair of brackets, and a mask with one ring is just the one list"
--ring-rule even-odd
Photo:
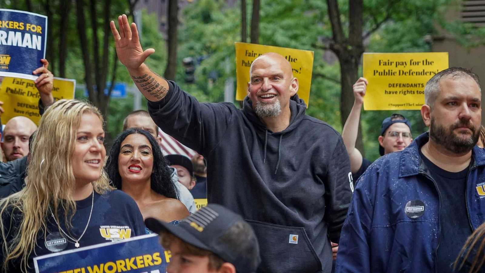
[(313, 71), (313, 51), (249, 43), (236, 43), (236, 100), (242, 101), (247, 95), (249, 68), (254, 59), (267, 52), (281, 54), (290, 62), (291, 68), (293, 68), (293, 76), (298, 79), (298, 97), (303, 99), (308, 107), (311, 73)]

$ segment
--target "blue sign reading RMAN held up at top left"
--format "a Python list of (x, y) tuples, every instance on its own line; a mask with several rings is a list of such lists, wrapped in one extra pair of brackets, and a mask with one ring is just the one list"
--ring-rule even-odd
[(46, 57), (47, 16), (0, 9), (0, 76), (35, 80)]

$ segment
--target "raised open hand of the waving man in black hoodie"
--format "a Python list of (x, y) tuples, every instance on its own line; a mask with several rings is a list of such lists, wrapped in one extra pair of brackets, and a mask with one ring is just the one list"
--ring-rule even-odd
[(126, 15), (118, 16), (118, 25), (120, 29), (119, 33), (114, 25), (114, 21), (110, 23), (118, 59), (128, 69), (137, 69), (155, 50), (150, 48), (143, 51), (136, 24), (131, 23), (130, 27)]

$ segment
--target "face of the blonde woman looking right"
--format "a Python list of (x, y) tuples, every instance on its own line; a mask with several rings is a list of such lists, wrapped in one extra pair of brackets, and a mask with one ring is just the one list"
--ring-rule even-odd
[(101, 176), (106, 150), (103, 145), (104, 130), (101, 119), (86, 112), (76, 130), (76, 144), (71, 161), (78, 185), (91, 183)]

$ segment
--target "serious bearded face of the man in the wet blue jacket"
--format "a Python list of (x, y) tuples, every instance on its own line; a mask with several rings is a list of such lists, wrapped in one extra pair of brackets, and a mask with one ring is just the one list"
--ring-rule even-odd
[(482, 122), (481, 93), (469, 76), (444, 77), (439, 82), (430, 118), (429, 135), (438, 145), (455, 154), (469, 152), (478, 141)]

